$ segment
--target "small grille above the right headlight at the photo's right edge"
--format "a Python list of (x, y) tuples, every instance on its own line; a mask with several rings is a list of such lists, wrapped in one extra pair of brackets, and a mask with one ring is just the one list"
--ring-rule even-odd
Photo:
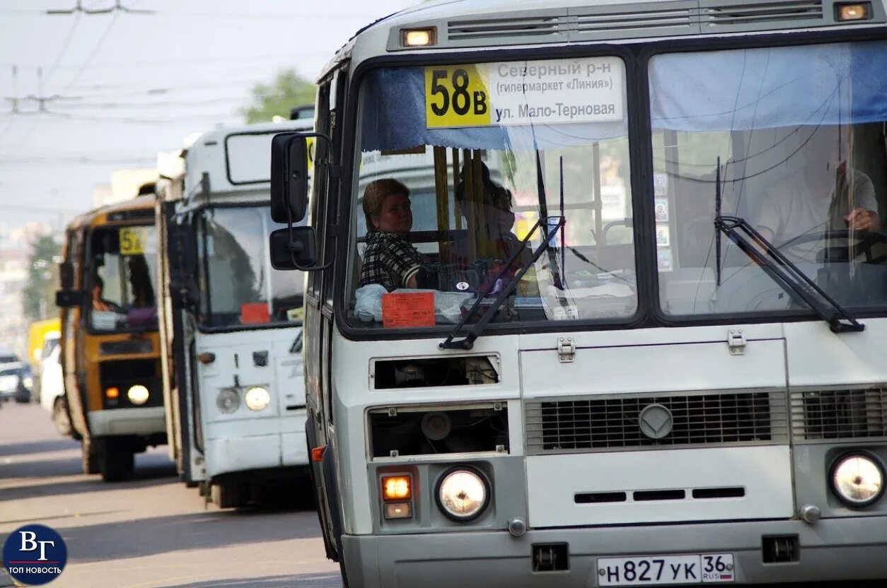
[(793, 391), (791, 428), (796, 442), (887, 437), (887, 388)]

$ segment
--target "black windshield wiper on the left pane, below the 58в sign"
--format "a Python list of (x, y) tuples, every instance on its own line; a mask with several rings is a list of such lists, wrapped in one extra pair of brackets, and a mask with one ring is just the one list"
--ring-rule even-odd
[[(549, 224), (549, 219), (553, 218), (558, 219), (557, 223)], [(446, 340), (442, 341), (438, 345), (440, 349), (471, 349), (475, 346), (475, 340), (479, 336), (481, 336), (481, 333), (483, 333), (483, 329), (486, 328), (486, 326), (492, 320), (493, 316), (498, 312), (498, 308), (502, 304), (502, 301), (506, 299), (506, 296), (508, 296), (508, 294), (511, 294), (511, 292), (514, 290), (514, 286), (517, 286), (517, 283), (521, 281), (521, 278), (523, 278), (523, 274), (527, 273), (527, 270), (530, 269), (530, 266), (532, 266), (533, 263), (536, 263), (539, 256), (542, 255), (548, 247), (551, 247), (552, 238), (554, 235), (557, 234), (557, 231), (561, 230), (563, 223), (563, 216), (539, 217), (539, 220), (536, 221), (536, 224), (534, 224), (530, 231), (527, 232), (526, 237), (521, 240), (520, 246), (514, 248), (514, 253), (512, 253), (511, 256), (508, 258), (508, 261), (503, 264), (502, 269), (499, 270), (498, 274), (496, 274), (496, 277), (490, 280), (490, 283), (485, 288), (483, 288), (483, 292), (481, 294), (478, 294), (477, 300), (471, 306), (471, 309), (468, 310), (466, 315), (462, 317), (462, 320), (459, 321), (459, 325), (453, 327), (451, 333), (447, 335)], [(467, 333), (462, 333), (462, 327), (465, 326), (465, 324), (469, 320), (475, 317), (475, 314), (477, 314), (477, 311), (481, 308), (484, 299), (486, 299), (486, 297), (491, 293), (492, 289), (496, 287), (496, 285), (498, 284), (498, 280), (505, 275), (505, 272), (511, 269), (512, 263), (514, 263), (518, 256), (520, 256), (527, 248), (527, 243), (530, 241), (530, 237), (533, 236), (533, 233), (535, 233), (537, 229), (545, 235), (544, 239), (542, 239), (542, 243), (539, 244), (539, 247), (536, 247), (536, 250), (533, 251), (533, 255), (530, 255), (530, 258), (521, 264), (521, 270), (515, 273), (511, 280), (508, 281), (506, 286), (502, 288), (490, 308), (483, 312), (481, 318), (477, 319), (477, 322), (471, 326)], [(456, 337), (459, 336), (461, 336), (462, 339), (456, 341)]]

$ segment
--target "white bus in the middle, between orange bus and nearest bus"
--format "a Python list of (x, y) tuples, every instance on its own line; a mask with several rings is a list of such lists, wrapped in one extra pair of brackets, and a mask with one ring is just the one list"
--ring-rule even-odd
[(170, 457), (220, 507), (307, 484), (302, 278), (271, 269), (267, 234), (271, 137), (311, 124), (214, 129), (159, 157)]

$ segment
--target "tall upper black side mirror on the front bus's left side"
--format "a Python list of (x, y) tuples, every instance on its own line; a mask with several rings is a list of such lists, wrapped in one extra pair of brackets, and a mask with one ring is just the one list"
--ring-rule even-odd
[(271, 219), (298, 223), (308, 210), (308, 140), (302, 133), (271, 139)]

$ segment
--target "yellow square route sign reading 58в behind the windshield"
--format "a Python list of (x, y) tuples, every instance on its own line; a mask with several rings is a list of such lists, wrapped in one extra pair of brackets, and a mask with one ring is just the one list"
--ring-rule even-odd
[(490, 92), (476, 66), (425, 68), (428, 129), (491, 124)]

